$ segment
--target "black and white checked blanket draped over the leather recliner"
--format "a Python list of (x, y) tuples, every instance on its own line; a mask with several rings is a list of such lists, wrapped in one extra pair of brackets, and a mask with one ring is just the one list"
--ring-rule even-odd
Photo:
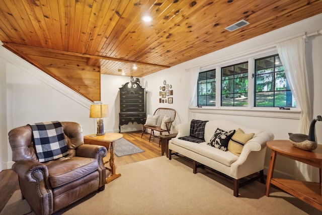
[(47, 162), (68, 155), (62, 125), (58, 121), (29, 124), (39, 162)]

